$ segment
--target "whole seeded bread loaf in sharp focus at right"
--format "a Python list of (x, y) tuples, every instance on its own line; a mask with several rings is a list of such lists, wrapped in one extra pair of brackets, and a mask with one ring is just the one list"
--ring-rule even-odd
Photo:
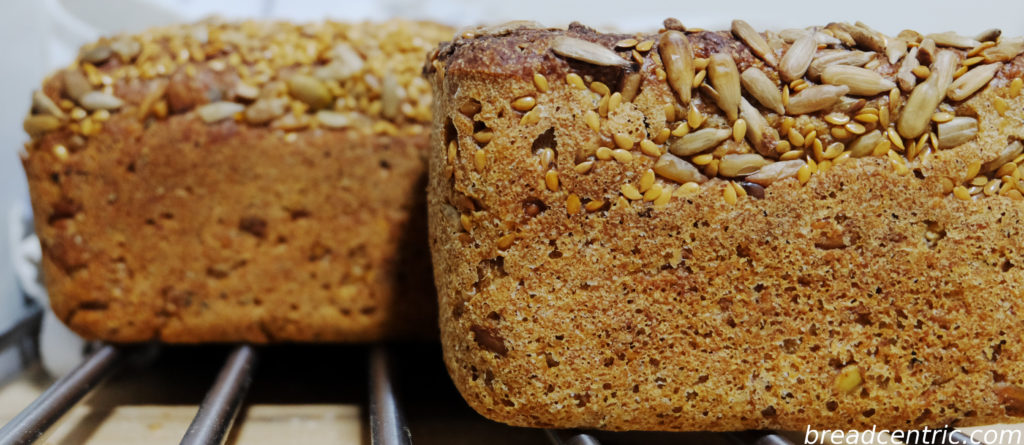
[(442, 44), (428, 212), (455, 384), (529, 427), (1019, 420), (1022, 50), (675, 19)]

